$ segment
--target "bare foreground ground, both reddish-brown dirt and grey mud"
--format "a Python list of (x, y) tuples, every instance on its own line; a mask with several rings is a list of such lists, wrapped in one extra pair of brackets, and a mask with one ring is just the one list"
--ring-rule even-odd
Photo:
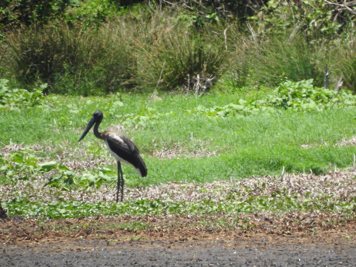
[[(131, 218), (132, 219), (132, 218)], [(143, 220), (145, 218), (141, 218)], [(147, 219), (147, 218), (146, 218)], [(187, 218), (176, 218), (188, 220)], [(128, 232), (122, 218), (0, 222), (5, 266), (355, 266), (356, 222), (266, 230), (177, 227)], [(130, 219), (124, 219), (130, 220)], [(134, 220), (137, 220), (135, 218)], [(158, 222), (157, 222), (158, 221)], [(153, 219), (153, 223), (162, 223)], [(95, 222), (95, 223), (94, 223)], [(89, 227), (88, 227), (89, 225)], [(91, 225), (91, 226), (90, 226)], [(93, 226), (95, 225), (95, 227)]]

